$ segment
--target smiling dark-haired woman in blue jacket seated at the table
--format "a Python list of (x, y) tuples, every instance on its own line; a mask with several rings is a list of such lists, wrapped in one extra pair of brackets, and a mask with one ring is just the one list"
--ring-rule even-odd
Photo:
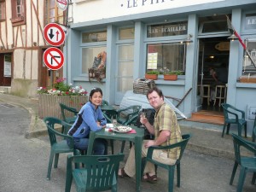
[[(93, 88), (90, 91), (89, 102), (85, 103), (80, 109), (78, 118), (73, 126), (67, 132), (74, 138), (74, 148), (87, 150), (89, 144), (90, 131), (100, 131), (106, 127), (107, 120), (102, 115), (99, 106), (102, 105), (102, 90)], [(105, 139), (98, 138), (95, 140), (93, 154), (107, 154), (108, 143)]]

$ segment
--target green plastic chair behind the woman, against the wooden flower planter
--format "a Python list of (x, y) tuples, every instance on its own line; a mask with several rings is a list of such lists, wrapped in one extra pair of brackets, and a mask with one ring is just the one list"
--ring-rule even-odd
[[(64, 105), (63, 103), (59, 103), (61, 107), (61, 118), (67, 122), (68, 124), (73, 124), (78, 116), (78, 111), (76, 108), (68, 107), (67, 105)], [(71, 116), (71, 117), (67, 117)]]

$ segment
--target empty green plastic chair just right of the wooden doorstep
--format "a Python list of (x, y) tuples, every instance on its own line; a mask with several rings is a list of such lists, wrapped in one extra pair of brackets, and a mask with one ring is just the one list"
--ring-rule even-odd
[(244, 127), (244, 135), (247, 137), (247, 121), (245, 119), (245, 112), (231, 106), (228, 103), (222, 103), (221, 106), (224, 109), (224, 125), (222, 131), (222, 137), (224, 137), (224, 131), (227, 126), (226, 134), (230, 132), (230, 124), (236, 124), (238, 127), (238, 135), (241, 136), (241, 129)]

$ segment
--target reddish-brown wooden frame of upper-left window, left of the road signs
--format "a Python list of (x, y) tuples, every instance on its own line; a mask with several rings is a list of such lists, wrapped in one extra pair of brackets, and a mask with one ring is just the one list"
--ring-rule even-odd
[(20, 16), (17, 13), (17, 0), (11, 0), (12, 18), (10, 19), (13, 26), (26, 24), (26, 0), (20, 0), (21, 9)]

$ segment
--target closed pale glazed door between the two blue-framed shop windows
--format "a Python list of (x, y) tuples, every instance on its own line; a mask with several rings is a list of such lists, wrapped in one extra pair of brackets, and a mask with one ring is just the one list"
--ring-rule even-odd
[(132, 90), (133, 67), (134, 67), (134, 45), (120, 44), (118, 47), (118, 65), (116, 69), (115, 82), (115, 104), (119, 105), (125, 92)]

